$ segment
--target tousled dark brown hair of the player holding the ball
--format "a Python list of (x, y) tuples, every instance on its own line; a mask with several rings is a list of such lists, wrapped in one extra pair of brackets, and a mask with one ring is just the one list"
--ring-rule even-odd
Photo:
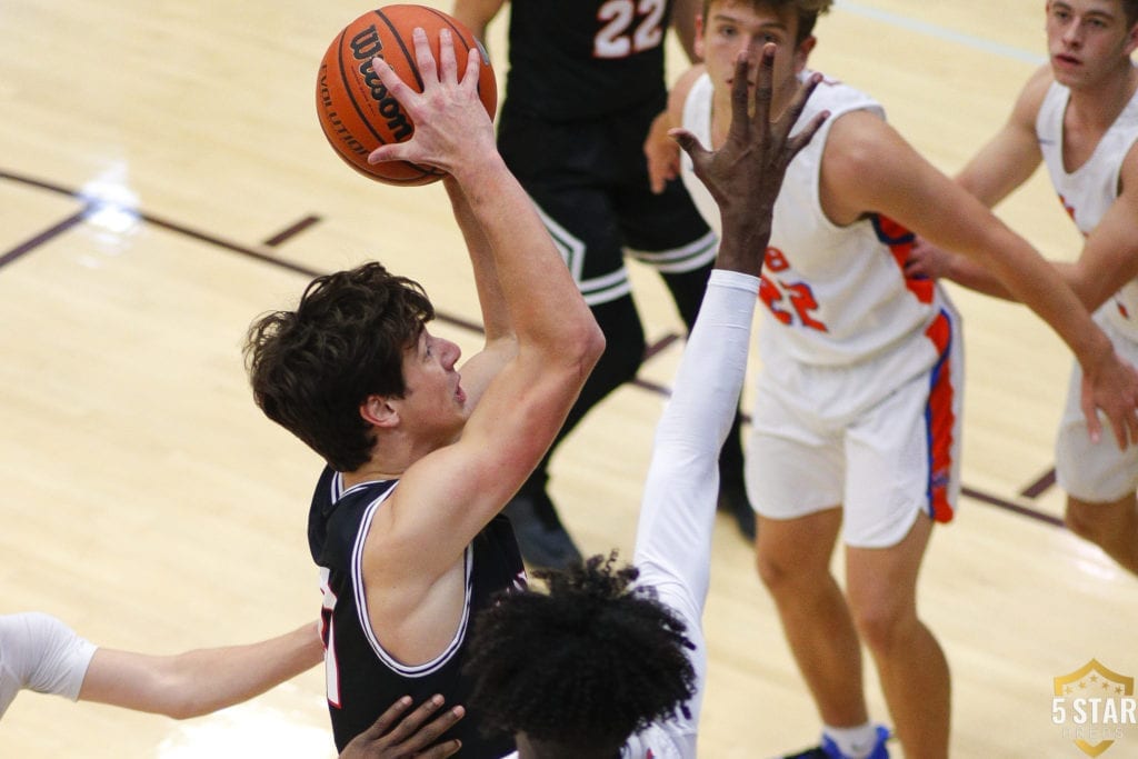
[(332, 469), (354, 471), (376, 443), (360, 405), (403, 396), (403, 352), (434, 317), (419, 283), (379, 263), (318, 277), (296, 311), (249, 328), (242, 353), (253, 397)]

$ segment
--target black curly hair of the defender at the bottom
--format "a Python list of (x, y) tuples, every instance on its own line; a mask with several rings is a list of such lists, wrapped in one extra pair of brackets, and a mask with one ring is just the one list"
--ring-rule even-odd
[(695, 693), (686, 626), (635, 567), (595, 555), (538, 571), (549, 593), (503, 593), (479, 613), (465, 674), (488, 731), (525, 733), (556, 756), (615, 756)]

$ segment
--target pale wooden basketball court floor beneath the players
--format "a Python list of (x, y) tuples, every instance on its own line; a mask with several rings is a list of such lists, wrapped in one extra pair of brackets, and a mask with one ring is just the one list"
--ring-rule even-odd
[[(875, 93), (953, 172), (1042, 60), (1042, 5), (841, 0), (813, 61)], [(50, 611), (149, 652), (254, 641), (316, 613), (305, 517), (319, 462), (254, 407), (246, 327), (314, 273), (378, 257), (424, 283), (443, 333), (478, 344), (442, 189), (372, 184), (319, 131), (318, 61), (368, 8), (0, 0), (0, 613)], [(1048, 256), (1078, 250), (1041, 176), (1001, 214)], [(635, 277), (650, 340), (678, 333), (659, 283)], [(922, 586), (954, 674), (953, 753), (1080, 757), (1050, 723), (1053, 678), (1091, 658), (1138, 674), (1138, 581), (1056, 526), (1063, 345), (1021, 307), (957, 304), (968, 497)], [(630, 551), (681, 346), (554, 463), (553, 495), (591, 552)], [(701, 756), (805, 746), (817, 718), (750, 548), (725, 518), (716, 541)], [(884, 720), (872, 671), (867, 691)], [(0, 727), (0, 757), (331, 754), (319, 670), (185, 723), (25, 694)], [(1138, 728), (1106, 756), (1138, 756)]]

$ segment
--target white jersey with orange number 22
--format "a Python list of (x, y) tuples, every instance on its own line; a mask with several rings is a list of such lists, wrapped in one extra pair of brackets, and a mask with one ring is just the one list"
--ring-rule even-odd
[[(809, 76), (805, 72), (802, 79)], [(908, 280), (904, 263), (913, 234), (880, 215), (848, 226), (833, 224), (818, 197), (822, 155), (830, 127), (843, 114), (867, 110), (884, 118), (869, 96), (823, 80), (799, 117), (798, 129), (820, 110), (831, 116), (791, 162), (774, 207), (760, 297), (769, 310), (759, 346), (774, 355), (815, 365), (853, 364), (920, 335), (940, 305), (929, 280)], [(684, 104), (684, 127), (711, 146), (711, 80), (704, 74)], [(719, 212), (683, 156), (685, 184), (708, 223), (719, 230)]]

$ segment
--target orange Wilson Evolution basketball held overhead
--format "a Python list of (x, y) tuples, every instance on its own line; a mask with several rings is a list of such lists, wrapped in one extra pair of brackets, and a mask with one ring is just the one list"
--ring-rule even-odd
[(386, 184), (429, 184), (444, 172), (406, 160), (369, 164), (368, 155), (381, 145), (403, 142), (414, 133), (414, 124), (372, 71), (371, 60), (382, 58), (412, 89), (422, 92), (411, 33), (422, 27), (438, 60), (438, 33), (451, 30), (459, 76), (465, 71), (468, 52), (477, 48), (483, 58), (478, 94), (486, 113), (494, 117), (497, 83), (486, 50), (463, 24), (447, 14), (424, 6), (397, 5), (370, 10), (336, 35), (320, 61), (316, 79), (316, 113), (329, 143), (349, 166)]

